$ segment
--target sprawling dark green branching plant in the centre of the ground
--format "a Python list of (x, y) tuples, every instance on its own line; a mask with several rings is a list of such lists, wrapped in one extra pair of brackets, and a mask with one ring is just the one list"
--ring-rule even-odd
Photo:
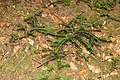
[[(55, 29), (53, 27), (47, 27), (47, 26), (39, 26), (38, 20), (36, 18), (37, 15), (32, 15), (25, 17), (25, 21), (31, 26), (31, 28), (26, 29), (21, 24), (18, 24), (18, 30), (25, 31), (25, 35), (22, 37), (18, 37), (16, 35), (12, 35), (11, 39), (13, 42), (18, 39), (22, 39), (25, 37), (33, 36), (34, 32), (43, 33), (45, 35), (51, 35), (56, 37), (56, 41), (52, 42), (51, 47), (53, 47), (53, 50), (50, 50), (50, 57), (47, 62), (51, 60), (57, 60), (59, 64), (61, 64), (61, 59), (66, 56), (63, 52), (63, 47), (68, 43), (72, 43), (73, 46), (76, 47), (77, 50), (81, 50), (82, 46), (84, 45), (85, 48), (95, 55), (95, 49), (94, 46), (100, 46), (101, 42), (111, 42), (106, 39), (101, 39), (94, 34), (92, 34), (86, 27), (81, 27), (80, 24), (86, 23), (86, 17), (83, 15), (78, 15), (76, 18), (73, 18), (69, 23), (63, 23), (61, 25), (64, 25), (65, 28), (59, 28)], [(97, 25), (98, 22), (93, 23), (93, 25)], [(75, 26), (79, 26), (77, 29)], [(81, 50), (82, 51), (82, 50)], [(45, 64), (45, 63), (43, 63)], [(58, 67), (61, 67), (58, 65)]]

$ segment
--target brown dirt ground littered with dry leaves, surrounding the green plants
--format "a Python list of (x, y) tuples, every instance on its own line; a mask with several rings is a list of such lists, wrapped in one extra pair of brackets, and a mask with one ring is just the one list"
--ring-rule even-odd
[[(63, 3), (53, 5), (49, 1), (56, 0), (0, 0), (0, 80), (119, 80), (120, 22), (100, 17), (98, 12), (82, 1), (76, 4), (75, 0), (71, 0), (69, 6)], [(54, 40), (54, 37), (36, 33), (36, 37), (30, 36), (12, 43), (10, 35), (23, 35), (22, 31), (17, 31), (16, 25), (20, 23), (29, 27), (24, 18), (39, 9), (42, 12), (37, 17), (38, 24), (44, 23), (48, 28), (64, 27), (59, 23), (68, 23), (82, 13), (86, 14), (89, 21), (99, 19), (105, 26), (97, 26), (101, 32), (93, 33), (101, 38), (110, 38), (112, 43), (101, 43), (96, 56), (90, 55), (83, 47), (78, 60), (75, 47), (68, 43), (64, 47), (67, 56), (62, 61), (70, 67), (59, 70), (57, 62), (51, 61), (37, 68), (45, 61), (42, 56), (49, 54), (39, 51), (53, 49), (48, 40)], [(120, 20), (120, 4), (109, 13)]]

